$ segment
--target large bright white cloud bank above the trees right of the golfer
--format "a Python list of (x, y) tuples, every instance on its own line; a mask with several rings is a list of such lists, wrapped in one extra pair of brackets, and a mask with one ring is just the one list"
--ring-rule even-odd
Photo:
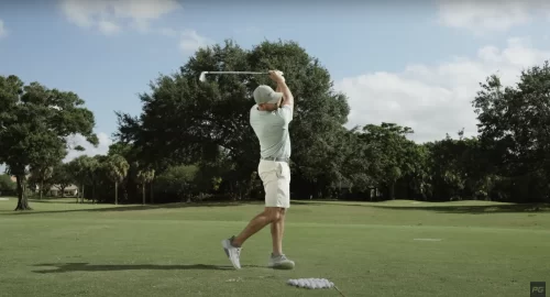
[(517, 82), (520, 72), (541, 65), (550, 51), (532, 48), (529, 38), (509, 38), (505, 48), (487, 45), (474, 58), (454, 57), (440, 65), (408, 65), (400, 73), (370, 73), (344, 78), (336, 89), (349, 97), (348, 127), (395, 122), (415, 130), (415, 141), (452, 138), (464, 128), (476, 135), (472, 100), (480, 82), (497, 74), (504, 85)]

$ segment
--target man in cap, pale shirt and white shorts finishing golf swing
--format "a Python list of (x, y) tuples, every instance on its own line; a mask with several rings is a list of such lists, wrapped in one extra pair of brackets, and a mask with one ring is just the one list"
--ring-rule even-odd
[(285, 215), (290, 207), (288, 123), (293, 120), (294, 97), (280, 72), (271, 70), (270, 78), (277, 84), (276, 91), (270, 86), (258, 86), (254, 90), (256, 105), (250, 110), (250, 124), (260, 141), (257, 173), (264, 184), (265, 208), (238, 237), (221, 242), (226, 254), (238, 270), (241, 268), (242, 244), (270, 223), (273, 252), (267, 265), (273, 268), (294, 268), (294, 261), (283, 253)]

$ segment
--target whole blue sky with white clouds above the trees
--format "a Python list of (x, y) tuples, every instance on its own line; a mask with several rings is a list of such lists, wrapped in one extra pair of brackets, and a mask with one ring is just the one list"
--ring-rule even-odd
[(346, 127), (395, 122), (422, 143), (462, 129), (476, 135), (479, 84), (497, 74), (513, 86), (522, 69), (549, 59), (549, 25), (550, 2), (541, 0), (7, 0), (0, 75), (86, 101), (100, 144), (72, 138), (87, 150), (70, 151), (69, 161), (107, 153), (114, 111), (140, 114), (138, 95), (197, 48), (227, 38), (246, 48), (292, 40), (348, 96)]

